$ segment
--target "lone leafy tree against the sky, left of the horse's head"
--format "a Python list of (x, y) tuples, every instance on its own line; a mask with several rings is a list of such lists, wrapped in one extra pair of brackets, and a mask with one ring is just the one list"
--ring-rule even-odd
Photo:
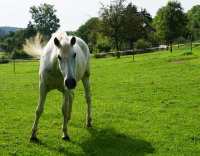
[(53, 7), (53, 5), (44, 3), (30, 8), (33, 26), (47, 38), (60, 27), (60, 20), (56, 17), (56, 10)]

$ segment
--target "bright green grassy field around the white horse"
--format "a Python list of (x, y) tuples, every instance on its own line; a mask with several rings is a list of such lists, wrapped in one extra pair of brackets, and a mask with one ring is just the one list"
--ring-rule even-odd
[(41, 117), (41, 144), (29, 143), (38, 97), (38, 62), (0, 65), (0, 155), (200, 155), (200, 48), (121, 59), (92, 59), (93, 128), (76, 90), (71, 142), (61, 139), (61, 94)]

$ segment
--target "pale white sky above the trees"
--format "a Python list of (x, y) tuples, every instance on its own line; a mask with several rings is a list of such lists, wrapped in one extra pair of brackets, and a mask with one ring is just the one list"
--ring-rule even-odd
[[(29, 8), (33, 5), (48, 3), (54, 5), (60, 19), (61, 30), (73, 31), (89, 18), (99, 15), (101, 3), (108, 5), (112, 0), (0, 0), (0, 26), (25, 28), (31, 20)], [(185, 11), (200, 4), (200, 0), (179, 0)], [(157, 10), (168, 0), (127, 0), (139, 8), (146, 8), (154, 17)]]

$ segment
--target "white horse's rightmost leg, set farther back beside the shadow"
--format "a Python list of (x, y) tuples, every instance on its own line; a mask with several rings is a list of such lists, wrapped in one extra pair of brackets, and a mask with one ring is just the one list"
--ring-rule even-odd
[(82, 82), (85, 90), (85, 99), (87, 103), (86, 126), (92, 127), (92, 103), (91, 103), (89, 75), (84, 76)]

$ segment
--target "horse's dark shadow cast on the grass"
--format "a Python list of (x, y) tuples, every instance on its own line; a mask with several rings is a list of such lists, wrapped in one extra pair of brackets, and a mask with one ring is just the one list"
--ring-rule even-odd
[[(80, 146), (84, 155), (87, 156), (144, 156), (155, 151), (149, 142), (118, 133), (114, 129), (88, 129), (88, 131), (91, 134), (90, 138), (79, 143), (71, 142)], [(73, 153), (67, 147), (53, 148), (48, 145), (45, 145), (45, 147), (64, 155), (83, 155)]]

